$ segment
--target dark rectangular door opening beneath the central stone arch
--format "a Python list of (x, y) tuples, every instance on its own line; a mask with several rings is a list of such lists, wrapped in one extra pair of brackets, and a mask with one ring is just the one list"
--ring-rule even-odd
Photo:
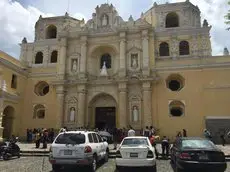
[(95, 127), (99, 130), (113, 129), (116, 127), (115, 107), (96, 107)]

